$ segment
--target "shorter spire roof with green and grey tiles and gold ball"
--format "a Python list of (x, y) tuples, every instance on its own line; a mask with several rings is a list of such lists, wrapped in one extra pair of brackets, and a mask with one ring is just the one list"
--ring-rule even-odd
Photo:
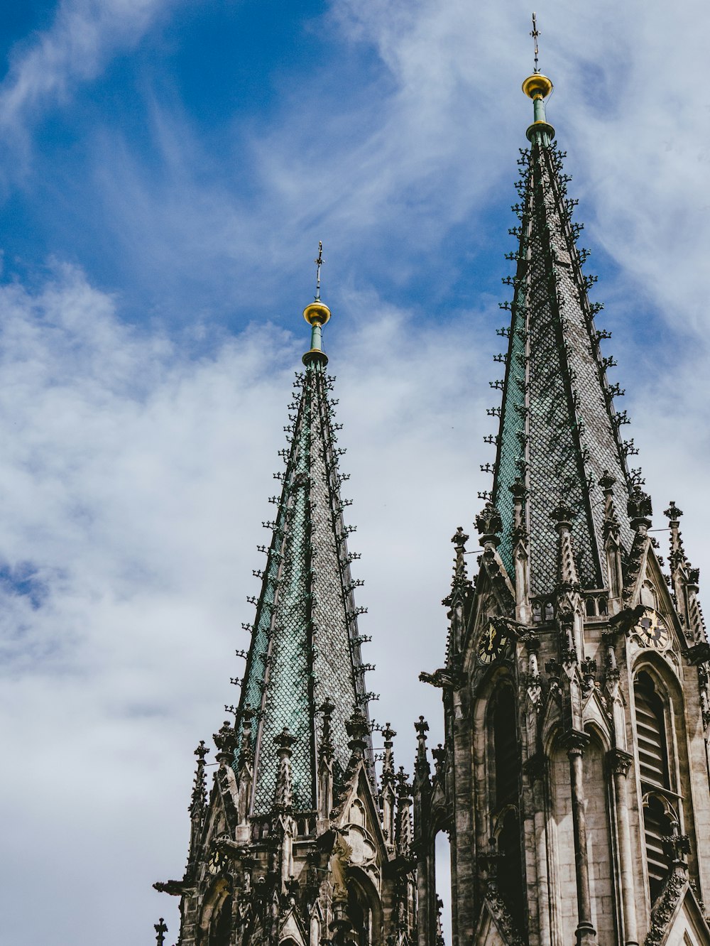
[[(319, 254), (319, 276), (322, 258)], [(282, 482), (280, 497), (272, 497), (276, 515), (264, 526), (271, 532), (267, 564), (254, 572), (262, 579), (251, 630), (251, 647), (242, 683), (237, 720), (247, 709), (257, 711), (251, 727), (254, 759), (251, 811), (265, 814), (270, 808), (278, 776), (278, 758), (271, 751), (284, 727), (294, 739), (291, 750), (293, 806), (296, 811), (317, 807), (318, 747), (322, 715), (320, 705), (334, 699), (330, 714), (333, 775), (338, 783), (349, 760), (345, 721), (355, 707), (367, 716), (368, 694), (360, 659), (361, 638), (355, 606), (350, 563), (356, 556), (347, 550), (338, 472), (333, 378), (325, 373), (328, 357), (321, 347), (321, 329), (331, 317), (316, 299), (303, 317), (311, 326), (311, 347), (303, 355), (303, 373), (296, 376), (295, 394), (285, 428), (288, 448), (281, 451), (286, 464), (276, 474)], [(336, 402), (337, 403), (337, 402)], [(249, 625), (248, 625), (249, 626)], [(245, 740), (241, 730), (242, 742)], [(368, 737), (368, 761), (372, 748)]]

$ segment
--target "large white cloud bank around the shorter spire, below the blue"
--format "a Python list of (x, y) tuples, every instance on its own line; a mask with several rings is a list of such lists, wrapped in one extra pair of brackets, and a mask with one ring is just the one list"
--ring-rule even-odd
[[(182, 870), (192, 744), (234, 699), (305, 331), (294, 341), (253, 325), (190, 358), (183, 338), (122, 325), (113, 300), (68, 268), (34, 293), (0, 290), (0, 308), (0, 565), (15, 580), (2, 590), (0, 711), (17, 760), (0, 789), (13, 813), (6, 935), (88, 943), (101, 927), (118, 944), (153, 914), (171, 917), (150, 884)], [(408, 766), (412, 720), (438, 710), (417, 674), (442, 656), (448, 537), (469, 504), (483, 414), (459, 407), (475, 398), (479, 356), (454, 327), (416, 329), (372, 293), (336, 308), (341, 443), (354, 447), (343, 468), (379, 662), (370, 685)], [(359, 320), (365, 310), (376, 323)], [(422, 640), (404, 660), (403, 639)], [(388, 682), (395, 666), (401, 690)], [(56, 909), (30, 928), (38, 889)]]

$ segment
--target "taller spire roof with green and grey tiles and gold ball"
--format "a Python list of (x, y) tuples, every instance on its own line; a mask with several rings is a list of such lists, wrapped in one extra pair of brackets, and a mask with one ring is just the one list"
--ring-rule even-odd
[[(490, 438), (497, 445), (494, 464), (494, 505), (502, 517), (498, 552), (509, 574), (514, 573), (513, 532), (516, 528), (514, 483), (519, 478), (526, 496), (525, 527), (530, 548), (529, 580), (533, 594), (544, 593), (556, 580), (556, 538), (549, 512), (564, 499), (575, 513), (572, 536), (582, 587), (605, 584), (604, 509), (599, 479), (615, 479), (615, 501), (626, 508), (630, 491), (627, 456), (632, 441), (619, 429), (626, 412), (615, 412), (613, 398), (623, 394), (610, 384), (607, 368), (614, 359), (602, 356), (594, 316), (601, 306), (589, 301), (587, 290), (596, 277), (585, 275), (587, 251), (577, 245), (581, 225), (572, 222), (577, 201), (566, 196), (569, 178), (563, 174), (563, 152), (552, 144), (554, 129), (545, 117), (545, 97), (552, 82), (539, 72), (523, 83), (533, 102), (528, 127), (529, 149), (521, 151), (517, 184), (521, 201), (513, 206), (520, 226), (511, 233), (518, 249), (508, 258), (516, 272), (504, 283), (513, 288), (508, 352), (496, 357), (506, 365), (502, 388), (500, 429)], [(632, 535), (621, 526), (621, 543), (628, 550)]]

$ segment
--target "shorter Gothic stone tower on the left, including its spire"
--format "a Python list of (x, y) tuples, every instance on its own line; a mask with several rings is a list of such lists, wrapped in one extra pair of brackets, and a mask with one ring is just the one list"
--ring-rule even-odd
[[(319, 254), (319, 277), (320, 277)], [(320, 278), (319, 278), (320, 287)], [(209, 795), (200, 743), (179, 946), (391, 946), (411, 940), (411, 789), (395, 774), (390, 727), (375, 784), (371, 724), (338, 472), (333, 378), (321, 348), (330, 310), (303, 315), (311, 347), (289, 405), (266, 566), (234, 723), (216, 733)], [(166, 927), (156, 925), (163, 943)]]

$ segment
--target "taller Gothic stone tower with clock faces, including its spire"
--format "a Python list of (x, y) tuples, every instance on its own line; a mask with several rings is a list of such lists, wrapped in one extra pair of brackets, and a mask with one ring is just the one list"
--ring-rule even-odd
[[(415, 769), (420, 946), (438, 937), (434, 839), (449, 833), (453, 946), (710, 944), (710, 645), (674, 502), (669, 570), (616, 411), (577, 245), (577, 201), (523, 83), (520, 225), (494, 484), (444, 604), (445, 745)], [(488, 468), (489, 464), (485, 467)]]

